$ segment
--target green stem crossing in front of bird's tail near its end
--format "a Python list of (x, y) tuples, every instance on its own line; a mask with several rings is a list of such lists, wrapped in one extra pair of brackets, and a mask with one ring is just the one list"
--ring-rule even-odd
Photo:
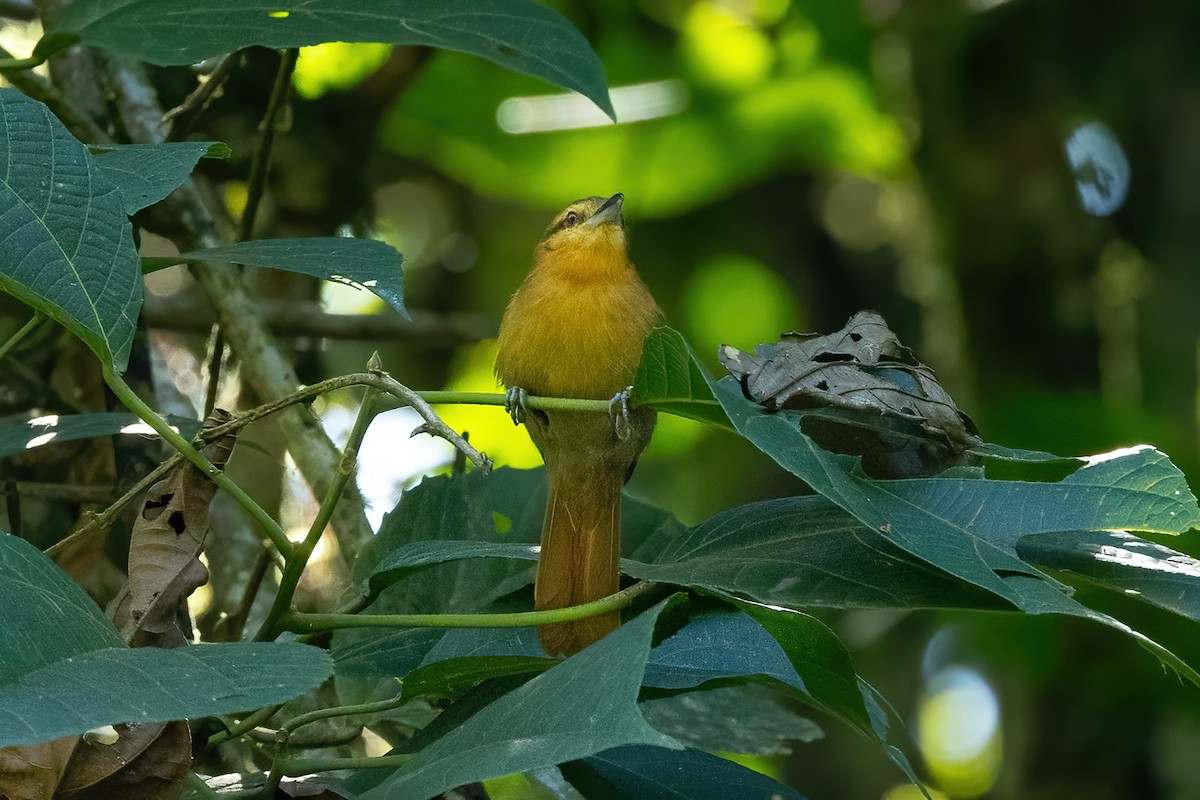
[(654, 583), (640, 581), (614, 595), (593, 600), (589, 603), (511, 614), (304, 614), (294, 612), (287, 620), (287, 630), (295, 633), (312, 633), (336, 631), (343, 627), (524, 627), (550, 625), (619, 610), (654, 588)]

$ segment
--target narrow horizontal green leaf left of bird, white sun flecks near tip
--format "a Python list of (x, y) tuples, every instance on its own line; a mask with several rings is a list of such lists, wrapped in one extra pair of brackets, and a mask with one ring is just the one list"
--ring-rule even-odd
[(401, 317), (409, 318), (404, 308), (404, 273), (401, 270), (403, 255), (390, 245), (373, 239), (262, 239), (181, 253), (169, 257), (169, 260), (173, 264), (229, 261), (311, 275), (355, 289), (366, 289), (383, 299)]

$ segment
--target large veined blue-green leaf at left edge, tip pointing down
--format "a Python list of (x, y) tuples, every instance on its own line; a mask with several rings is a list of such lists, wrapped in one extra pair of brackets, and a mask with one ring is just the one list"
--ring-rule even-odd
[(0, 89), (0, 290), (125, 369), (142, 273), (120, 190), (46, 106)]

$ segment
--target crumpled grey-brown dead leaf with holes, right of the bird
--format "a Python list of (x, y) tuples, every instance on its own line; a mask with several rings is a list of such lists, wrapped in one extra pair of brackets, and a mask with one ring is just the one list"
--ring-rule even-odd
[(971, 419), (934, 371), (874, 311), (836, 333), (785, 333), (752, 354), (724, 345), (720, 360), (745, 396), (769, 411), (805, 410), (802, 428), (826, 450), (862, 456), (875, 477), (914, 477), (968, 463)]

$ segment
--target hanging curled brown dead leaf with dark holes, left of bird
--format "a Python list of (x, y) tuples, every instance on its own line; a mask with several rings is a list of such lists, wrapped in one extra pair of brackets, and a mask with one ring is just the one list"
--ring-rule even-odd
[[(229, 420), (217, 410), (205, 428)], [(204, 449), (223, 467), (236, 434), (229, 433)], [(209, 572), (200, 564), (209, 530), (209, 504), (216, 485), (191, 464), (182, 464), (146, 492), (130, 537), (130, 571), (125, 589), (108, 613), (132, 646), (172, 648), (190, 637), (179, 624), (180, 603), (203, 585)]]

